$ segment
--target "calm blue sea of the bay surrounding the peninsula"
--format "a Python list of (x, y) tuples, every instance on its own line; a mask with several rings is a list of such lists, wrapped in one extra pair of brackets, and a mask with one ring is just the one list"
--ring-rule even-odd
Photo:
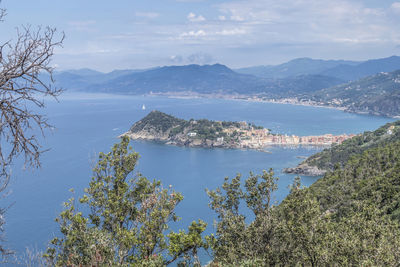
[[(147, 109), (141, 110), (145, 104)], [(91, 177), (95, 154), (108, 152), (125, 132), (151, 110), (177, 117), (212, 120), (248, 121), (276, 133), (297, 135), (360, 133), (392, 121), (389, 118), (356, 115), (338, 110), (271, 103), (215, 99), (171, 99), (163, 97), (123, 97), (109, 95), (64, 95), (59, 103), (50, 101), (46, 113), (56, 126), (44, 142), (51, 150), (42, 158), (40, 170), (22, 171), (14, 167), (9, 195), (3, 204), (13, 203), (6, 216), (7, 245), (17, 252), (26, 247), (43, 250), (57, 234), (54, 218), (62, 202), (71, 197), (70, 188), (79, 196)], [(141, 155), (138, 171), (148, 178), (160, 179), (164, 185), (183, 193), (184, 201), (177, 213), (183, 219), (174, 228), (186, 228), (201, 218), (213, 231), (213, 213), (209, 210), (205, 189), (221, 185), (226, 176), (250, 171), (260, 173), (274, 168), (280, 178), (276, 200), (288, 193), (294, 176), (280, 170), (301, 161), (318, 149), (271, 148), (272, 153), (245, 150), (196, 149), (135, 142)], [(302, 177), (305, 185), (316, 178)]]

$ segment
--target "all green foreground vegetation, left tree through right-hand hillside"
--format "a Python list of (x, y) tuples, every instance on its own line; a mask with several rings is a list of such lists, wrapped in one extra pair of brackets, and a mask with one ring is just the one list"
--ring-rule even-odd
[(123, 138), (100, 154), (80, 199), (57, 218), (61, 235), (46, 258), (55, 266), (398, 266), (400, 264), (400, 142), (357, 154), (310, 188), (299, 179), (279, 205), (272, 170), (226, 178), (207, 191), (217, 214), (215, 234), (193, 222), (187, 231), (168, 230), (183, 199), (140, 174), (129, 180), (138, 154)]

